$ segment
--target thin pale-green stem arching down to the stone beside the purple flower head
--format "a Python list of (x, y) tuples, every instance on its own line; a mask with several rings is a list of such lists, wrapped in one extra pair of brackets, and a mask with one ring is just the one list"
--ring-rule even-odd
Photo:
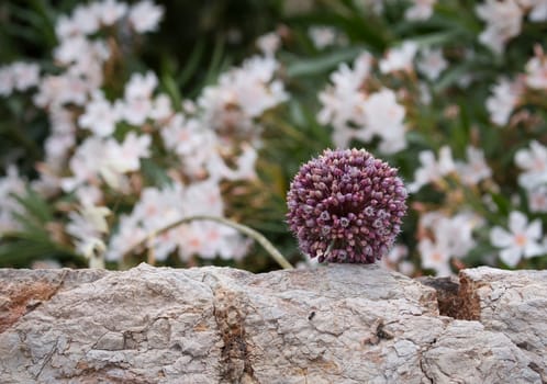
[(281, 252), (279, 252), (277, 250), (277, 248), (266, 237), (264, 237), (264, 235), (261, 235), (259, 231), (257, 231), (250, 227), (247, 227), (246, 225), (243, 225), (243, 224), (236, 223), (234, 221), (231, 221), (228, 218), (225, 218), (225, 217), (208, 216), (208, 215), (188, 216), (188, 217), (181, 218), (175, 223), (171, 223), (171, 224), (169, 224), (169, 225), (167, 225), (158, 230), (155, 230), (149, 236), (147, 236), (143, 240), (138, 241), (129, 251), (123, 253), (122, 260), (124, 260), (125, 257), (131, 255), (131, 252), (134, 249), (144, 246), (146, 244), (146, 241), (148, 241), (150, 238), (153, 238), (157, 235), (160, 235), (163, 233), (166, 233), (175, 227), (178, 227), (179, 225), (188, 224), (188, 223), (193, 222), (193, 221), (211, 221), (211, 222), (216, 222), (216, 223), (226, 225), (228, 227), (232, 227), (234, 229), (237, 229), (242, 234), (247, 235), (248, 237), (250, 237), (254, 240), (256, 240), (257, 242), (259, 242), (263, 246), (263, 248), (266, 249), (266, 251), (274, 258), (274, 260), (276, 260), (277, 263), (279, 266), (281, 266), (283, 269), (293, 269), (293, 267), (291, 266), (291, 263), (289, 261), (287, 261), (284, 256), (282, 256)]

